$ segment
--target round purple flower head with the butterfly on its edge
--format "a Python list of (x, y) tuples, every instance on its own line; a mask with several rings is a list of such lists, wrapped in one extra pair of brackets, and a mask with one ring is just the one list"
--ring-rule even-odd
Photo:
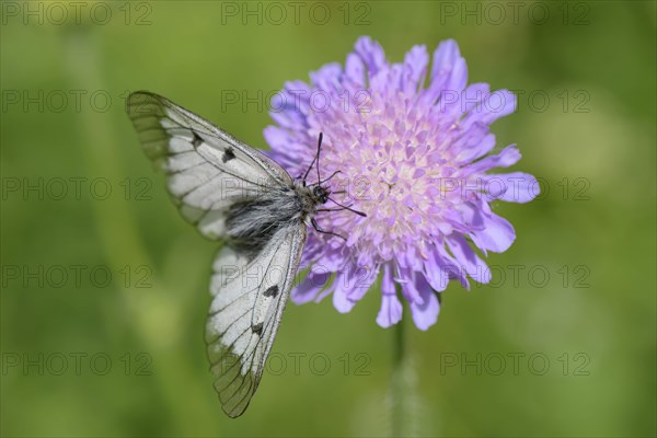
[[(292, 300), (332, 293), (335, 308), (348, 312), (380, 278), (377, 323), (388, 327), (401, 320), (401, 289), (415, 325), (427, 330), (450, 279), (465, 288), (469, 278), (489, 280), (471, 243), (486, 255), (506, 251), (516, 238), (488, 204), (527, 203), (539, 193), (529, 174), (488, 173), (520, 159), (515, 145), (491, 154), (495, 136), (488, 127), (515, 111), (516, 97), (485, 83), (466, 85), (465, 60), (451, 39), (438, 46), (429, 67), (424, 46), (413, 47), (404, 62), (389, 64), (378, 43), (361, 37), (344, 68), (327, 64), (310, 78), (310, 84), (287, 82), (274, 97), (278, 126), (264, 132), (270, 153), (301, 176), (323, 132), (321, 175), (341, 172), (324, 185), (337, 203), (367, 217), (331, 201), (335, 211), (318, 214), (323, 230), (346, 240), (309, 228), (302, 267), (310, 270)], [(313, 171), (309, 183), (316, 181)]]

